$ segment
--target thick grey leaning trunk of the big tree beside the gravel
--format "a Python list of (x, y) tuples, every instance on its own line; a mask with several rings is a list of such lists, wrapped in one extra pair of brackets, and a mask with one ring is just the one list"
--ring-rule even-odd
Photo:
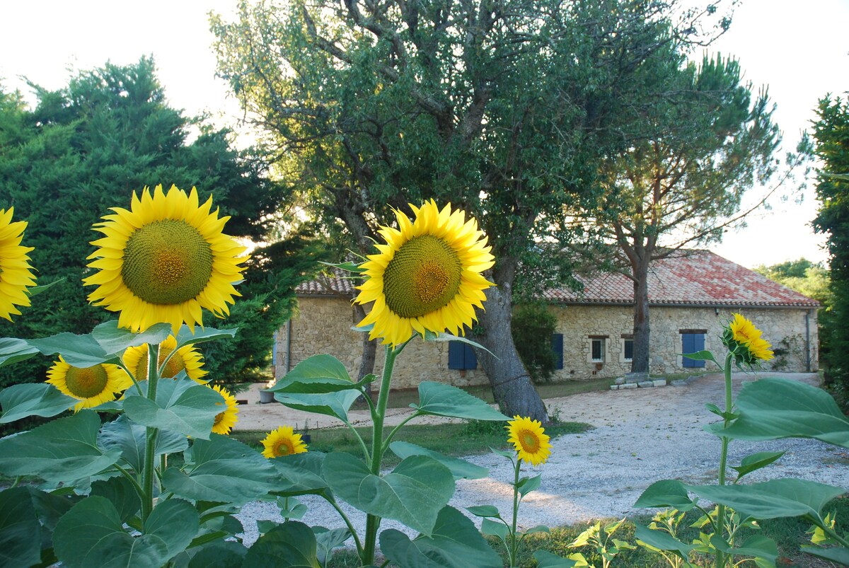
[(510, 333), (513, 275), (513, 267), (502, 267), (495, 275), (498, 286), (486, 290), (486, 311), (481, 313), (481, 325), (485, 330), (481, 345), (492, 351), (494, 356), (478, 350), (478, 360), (489, 377), (492, 395), (502, 413), (510, 417), (530, 417), (548, 425), (543, 399), (531, 384), (531, 376), (519, 358)]

